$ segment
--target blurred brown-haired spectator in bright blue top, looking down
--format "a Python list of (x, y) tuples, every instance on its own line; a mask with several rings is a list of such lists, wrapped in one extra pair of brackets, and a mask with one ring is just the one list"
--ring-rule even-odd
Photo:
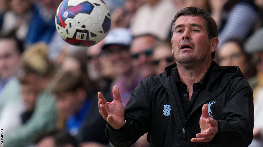
[(51, 84), (58, 112), (66, 117), (65, 128), (70, 134), (79, 143), (109, 144), (104, 129), (106, 122), (96, 113), (97, 91), (93, 87), (79, 70), (60, 71)]

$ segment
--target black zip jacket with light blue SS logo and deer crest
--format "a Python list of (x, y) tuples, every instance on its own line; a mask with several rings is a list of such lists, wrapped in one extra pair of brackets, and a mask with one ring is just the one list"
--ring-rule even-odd
[[(107, 124), (106, 134), (111, 143), (116, 147), (130, 146), (148, 132), (151, 147), (248, 146), (254, 126), (252, 89), (239, 67), (213, 64), (207, 84), (191, 105), (188, 118), (176, 94), (177, 88), (171, 84), (175, 64), (166, 67), (159, 76), (142, 81), (131, 92), (125, 107), (125, 125), (115, 130)], [(205, 103), (210, 103), (209, 115), (218, 121), (218, 133), (208, 143), (191, 143), (190, 139), (200, 133), (199, 119)]]

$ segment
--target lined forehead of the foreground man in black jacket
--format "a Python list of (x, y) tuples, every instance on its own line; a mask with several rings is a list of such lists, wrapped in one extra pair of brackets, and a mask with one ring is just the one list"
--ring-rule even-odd
[(176, 25), (188, 25), (188, 24), (199, 24), (201, 26), (205, 25), (205, 19), (199, 15), (182, 15), (179, 16), (175, 21)]

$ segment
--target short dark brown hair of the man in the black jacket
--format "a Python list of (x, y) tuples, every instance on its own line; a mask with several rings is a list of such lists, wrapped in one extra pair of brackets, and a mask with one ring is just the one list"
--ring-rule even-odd
[[(193, 16), (203, 17), (205, 19), (205, 28), (208, 32), (208, 38), (211, 39), (213, 37), (218, 37), (218, 29), (217, 29), (216, 22), (208, 12), (206, 12), (204, 9), (197, 8), (197, 7), (186, 7), (186, 8), (181, 9), (174, 16), (174, 19), (171, 23), (172, 38), (173, 38), (173, 33), (174, 33), (175, 21), (182, 15), (183, 16), (193, 15)], [(214, 58), (215, 58), (215, 52), (212, 53), (212, 59)]]

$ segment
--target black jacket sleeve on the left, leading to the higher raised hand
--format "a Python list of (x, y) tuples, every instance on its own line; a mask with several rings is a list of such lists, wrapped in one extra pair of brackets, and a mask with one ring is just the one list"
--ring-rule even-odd
[(122, 128), (115, 130), (107, 124), (107, 137), (115, 147), (130, 146), (148, 132), (151, 119), (149, 89), (150, 80), (148, 78), (131, 92), (130, 99), (124, 109), (126, 123)]

